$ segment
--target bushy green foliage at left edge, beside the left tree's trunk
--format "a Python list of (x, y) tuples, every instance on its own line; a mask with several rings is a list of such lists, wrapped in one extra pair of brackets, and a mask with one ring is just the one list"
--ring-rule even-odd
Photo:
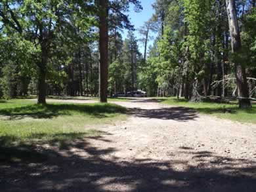
[(30, 41), (18, 36), (0, 38), (1, 88), (5, 98), (26, 95), (30, 77), (35, 75), (33, 55), (37, 52)]

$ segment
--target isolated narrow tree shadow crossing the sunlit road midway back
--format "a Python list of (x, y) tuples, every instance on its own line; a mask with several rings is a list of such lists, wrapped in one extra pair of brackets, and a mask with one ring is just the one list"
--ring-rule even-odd
[(198, 117), (196, 111), (185, 107), (163, 107), (161, 109), (131, 108), (127, 113), (136, 117), (175, 121), (191, 121)]

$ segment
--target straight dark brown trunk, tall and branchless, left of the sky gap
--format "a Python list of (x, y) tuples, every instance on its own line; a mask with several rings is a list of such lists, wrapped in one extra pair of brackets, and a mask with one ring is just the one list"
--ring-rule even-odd
[(99, 66), (99, 94), (100, 102), (108, 102), (108, 0), (99, 1), (99, 50), (100, 50), (100, 66)]

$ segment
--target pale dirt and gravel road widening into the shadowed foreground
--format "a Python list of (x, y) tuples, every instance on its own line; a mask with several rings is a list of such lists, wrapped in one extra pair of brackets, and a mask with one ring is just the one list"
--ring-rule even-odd
[(256, 125), (144, 98), (114, 103), (128, 119), (95, 136), (12, 148), (29, 158), (1, 162), (1, 191), (255, 191)]

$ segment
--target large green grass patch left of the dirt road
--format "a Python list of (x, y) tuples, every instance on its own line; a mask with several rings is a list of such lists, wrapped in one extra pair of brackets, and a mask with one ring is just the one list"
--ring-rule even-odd
[(90, 126), (125, 119), (125, 108), (114, 104), (37, 105), (29, 100), (0, 102), (0, 144), (68, 142), (100, 132)]

